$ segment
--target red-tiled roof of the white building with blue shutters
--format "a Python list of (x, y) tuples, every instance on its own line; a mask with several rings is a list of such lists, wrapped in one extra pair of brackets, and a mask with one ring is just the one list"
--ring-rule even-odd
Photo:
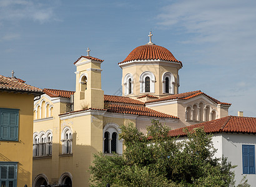
[[(187, 128), (189, 131), (191, 131), (198, 127), (204, 127), (204, 131), (206, 133), (256, 133), (256, 118), (227, 116), (217, 120), (212, 120), (210, 122), (190, 125), (189, 127), (184, 128)], [(183, 132), (184, 128), (170, 130), (169, 135), (171, 137), (185, 136), (186, 134)]]

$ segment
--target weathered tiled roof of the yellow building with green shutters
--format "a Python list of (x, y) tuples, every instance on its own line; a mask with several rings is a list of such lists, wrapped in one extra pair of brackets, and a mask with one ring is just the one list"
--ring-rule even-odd
[(33, 87), (25, 83), (26, 81), (11, 78), (11, 77), (4, 77), (0, 75), (0, 90), (10, 90), (10, 91), (17, 91), (17, 92), (32, 92), (32, 93), (42, 93), (41, 89), (37, 87)]

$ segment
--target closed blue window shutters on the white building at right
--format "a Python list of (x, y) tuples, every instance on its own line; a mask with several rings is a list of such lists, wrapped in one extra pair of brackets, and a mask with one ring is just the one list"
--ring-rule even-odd
[[(248, 149), (247, 153), (245, 154), (245, 148)], [(250, 153), (249, 148), (252, 148), (252, 153)], [(247, 157), (247, 163), (245, 163), (245, 156)], [(250, 165), (250, 156), (252, 156), (253, 165)], [(248, 165), (248, 171), (245, 171), (245, 164)], [(252, 167), (252, 171), (250, 171), (250, 167)], [(255, 175), (255, 145), (242, 145), (242, 170), (243, 174), (246, 175)]]

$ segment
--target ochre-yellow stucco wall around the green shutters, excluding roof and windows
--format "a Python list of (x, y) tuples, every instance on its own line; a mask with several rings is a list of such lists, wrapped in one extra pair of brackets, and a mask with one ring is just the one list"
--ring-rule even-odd
[(19, 109), (18, 141), (0, 141), (0, 161), (16, 161), (17, 186), (32, 185), (33, 95), (0, 92), (0, 108)]

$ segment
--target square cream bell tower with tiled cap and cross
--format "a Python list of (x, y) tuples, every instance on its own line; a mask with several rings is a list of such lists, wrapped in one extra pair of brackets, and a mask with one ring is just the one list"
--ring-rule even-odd
[(87, 49), (87, 56), (81, 56), (76, 65), (76, 92), (74, 110), (104, 108), (104, 92), (101, 89), (101, 63), (104, 60), (92, 57)]

